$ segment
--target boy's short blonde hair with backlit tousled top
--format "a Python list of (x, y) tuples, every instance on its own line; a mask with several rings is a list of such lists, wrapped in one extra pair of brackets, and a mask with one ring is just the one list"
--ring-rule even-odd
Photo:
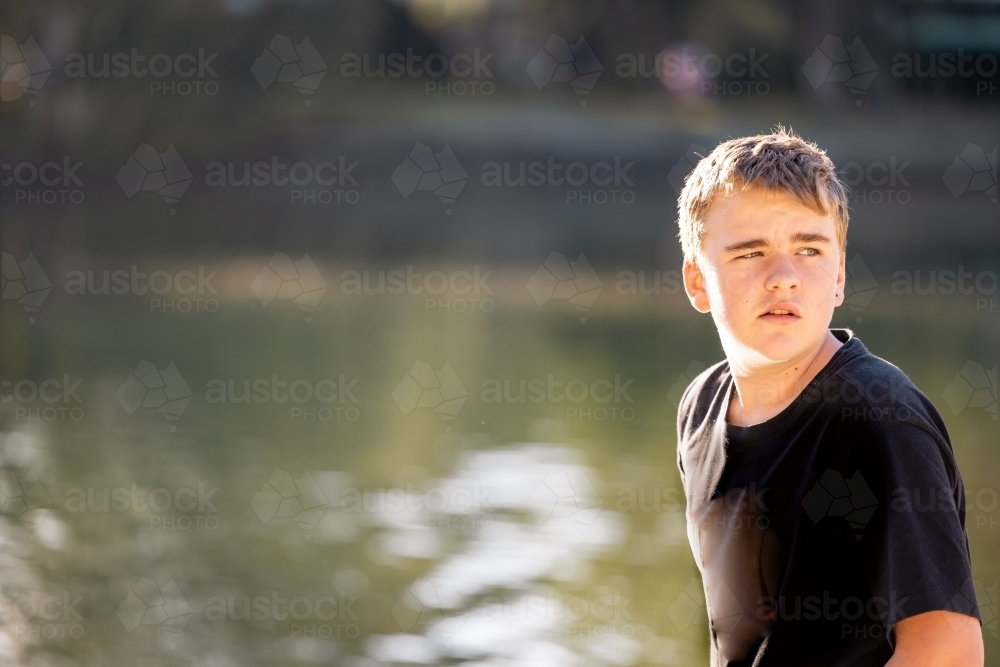
[(841, 252), (847, 251), (847, 188), (826, 152), (778, 125), (771, 134), (730, 139), (701, 159), (677, 200), (684, 261), (694, 261), (705, 238), (705, 217), (719, 196), (736, 188), (784, 191), (822, 215), (832, 214)]

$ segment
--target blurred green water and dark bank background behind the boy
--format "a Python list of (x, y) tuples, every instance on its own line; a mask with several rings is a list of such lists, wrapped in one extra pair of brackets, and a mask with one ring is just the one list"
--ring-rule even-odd
[(705, 664), (675, 418), (722, 350), (677, 189), (781, 122), (852, 186), (832, 326), (947, 423), (1000, 664), (998, 23), (4, 3), (2, 662)]

